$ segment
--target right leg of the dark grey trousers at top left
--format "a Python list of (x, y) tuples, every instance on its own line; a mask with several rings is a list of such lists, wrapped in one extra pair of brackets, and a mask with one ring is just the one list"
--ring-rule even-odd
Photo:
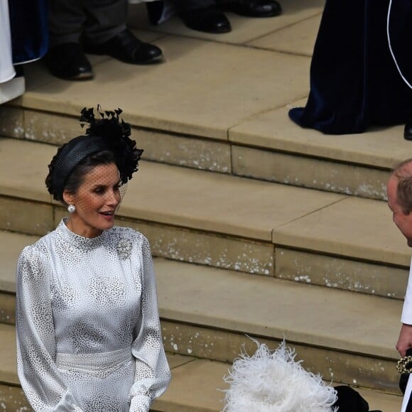
[(127, 0), (85, 0), (84, 36), (90, 43), (104, 43), (126, 29)]

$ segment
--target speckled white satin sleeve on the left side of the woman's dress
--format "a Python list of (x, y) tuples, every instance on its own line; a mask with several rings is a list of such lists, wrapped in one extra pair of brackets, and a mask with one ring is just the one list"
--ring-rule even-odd
[(55, 365), (55, 330), (47, 252), (23, 249), (16, 290), (17, 367), (26, 397), (35, 411), (82, 412)]

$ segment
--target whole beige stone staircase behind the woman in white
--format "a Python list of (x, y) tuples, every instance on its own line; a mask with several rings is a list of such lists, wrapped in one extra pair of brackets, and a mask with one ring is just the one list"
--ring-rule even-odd
[(116, 224), (151, 242), (173, 380), (155, 411), (219, 411), (222, 377), (254, 343), (286, 339), (305, 367), (399, 411), (394, 349), (411, 252), (391, 222), (385, 184), (411, 156), (402, 126), (324, 136), (287, 117), (304, 104), (322, 1), (283, 16), (230, 16), (212, 36), (174, 18), (140, 38), (167, 62), (135, 67), (92, 57), (72, 83), (28, 66), (28, 91), (0, 107), (0, 410), (29, 408), (14, 344), (16, 259), (65, 215), (44, 188), (77, 113), (119, 106), (145, 148)]

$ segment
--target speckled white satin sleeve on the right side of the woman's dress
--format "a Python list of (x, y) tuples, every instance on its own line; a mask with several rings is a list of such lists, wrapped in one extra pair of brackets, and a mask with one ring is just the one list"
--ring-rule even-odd
[(153, 399), (161, 396), (170, 382), (161, 337), (153, 261), (146, 237), (143, 237), (141, 248), (141, 273), (135, 275), (141, 277), (141, 315), (131, 347), (136, 372), (130, 391), (130, 412), (148, 411)]

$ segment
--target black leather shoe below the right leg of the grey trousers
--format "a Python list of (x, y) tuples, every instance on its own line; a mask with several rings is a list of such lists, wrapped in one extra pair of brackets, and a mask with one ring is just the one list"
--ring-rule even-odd
[(85, 43), (86, 53), (109, 55), (112, 58), (132, 65), (147, 65), (163, 58), (163, 53), (156, 45), (143, 43), (129, 29), (112, 37), (104, 43)]

